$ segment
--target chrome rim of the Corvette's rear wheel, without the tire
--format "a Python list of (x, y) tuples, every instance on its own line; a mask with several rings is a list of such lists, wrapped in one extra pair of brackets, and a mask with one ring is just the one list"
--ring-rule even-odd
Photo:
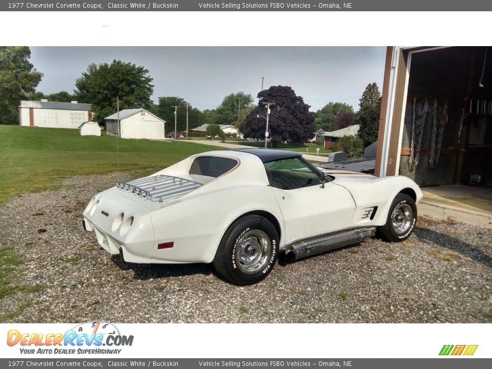
[(242, 273), (255, 274), (272, 256), (272, 242), (260, 230), (246, 232), (237, 243), (234, 261)]

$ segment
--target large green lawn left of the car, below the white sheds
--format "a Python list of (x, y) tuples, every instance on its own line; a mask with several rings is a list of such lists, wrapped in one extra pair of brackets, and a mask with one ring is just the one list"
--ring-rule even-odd
[[(119, 170), (157, 171), (217, 147), (182, 140), (118, 139)], [(0, 125), (0, 206), (12, 196), (56, 189), (77, 174), (118, 170), (116, 137), (80, 136), (78, 130)]]

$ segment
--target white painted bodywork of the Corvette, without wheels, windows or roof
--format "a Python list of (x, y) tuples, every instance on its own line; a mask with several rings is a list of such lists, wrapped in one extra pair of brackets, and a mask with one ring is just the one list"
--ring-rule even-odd
[[(415, 202), (422, 198), (416, 183), (403, 176), (378, 178), (320, 168), (335, 177), (324, 188), (282, 190), (269, 186), (262, 159), (251, 153), (255, 150), (247, 151), (193, 155), (147, 177), (169, 175), (202, 184), (185, 194), (157, 200), (131, 188), (103, 191), (84, 211), (85, 228), (95, 231), (107, 252), (122, 254), (128, 262), (210, 263), (224, 233), (245, 214), (268, 218), (278, 229), (282, 251), (301, 239), (382, 226), (402, 191)], [(194, 160), (203, 156), (234, 159), (237, 165), (217, 178), (190, 174)]]

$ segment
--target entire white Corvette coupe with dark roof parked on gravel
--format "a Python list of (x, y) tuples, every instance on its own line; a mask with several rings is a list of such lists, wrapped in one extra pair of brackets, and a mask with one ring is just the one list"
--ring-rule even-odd
[(402, 176), (314, 167), (300, 153), (240, 149), (190, 156), (95, 195), (84, 228), (133, 263), (210, 263), (259, 282), (279, 253), (298, 259), (374, 236), (412, 233), (422, 192)]

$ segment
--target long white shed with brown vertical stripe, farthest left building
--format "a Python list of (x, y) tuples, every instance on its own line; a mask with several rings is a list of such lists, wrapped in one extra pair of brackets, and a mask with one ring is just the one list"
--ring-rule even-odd
[(59, 103), (57, 101), (20, 101), (19, 126), (78, 128), (83, 122), (92, 120), (90, 104)]

